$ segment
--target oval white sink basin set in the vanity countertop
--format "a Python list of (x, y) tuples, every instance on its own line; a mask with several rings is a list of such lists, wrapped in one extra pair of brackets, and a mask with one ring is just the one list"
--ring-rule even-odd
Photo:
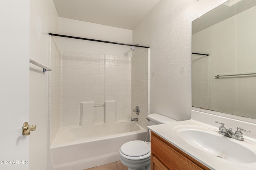
[(233, 162), (256, 162), (256, 154), (242, 145), (245, 141), (232, 141), (218, 131), (204, 128), (178, 128), (178, 136), (189, 145), (208, 154)]

